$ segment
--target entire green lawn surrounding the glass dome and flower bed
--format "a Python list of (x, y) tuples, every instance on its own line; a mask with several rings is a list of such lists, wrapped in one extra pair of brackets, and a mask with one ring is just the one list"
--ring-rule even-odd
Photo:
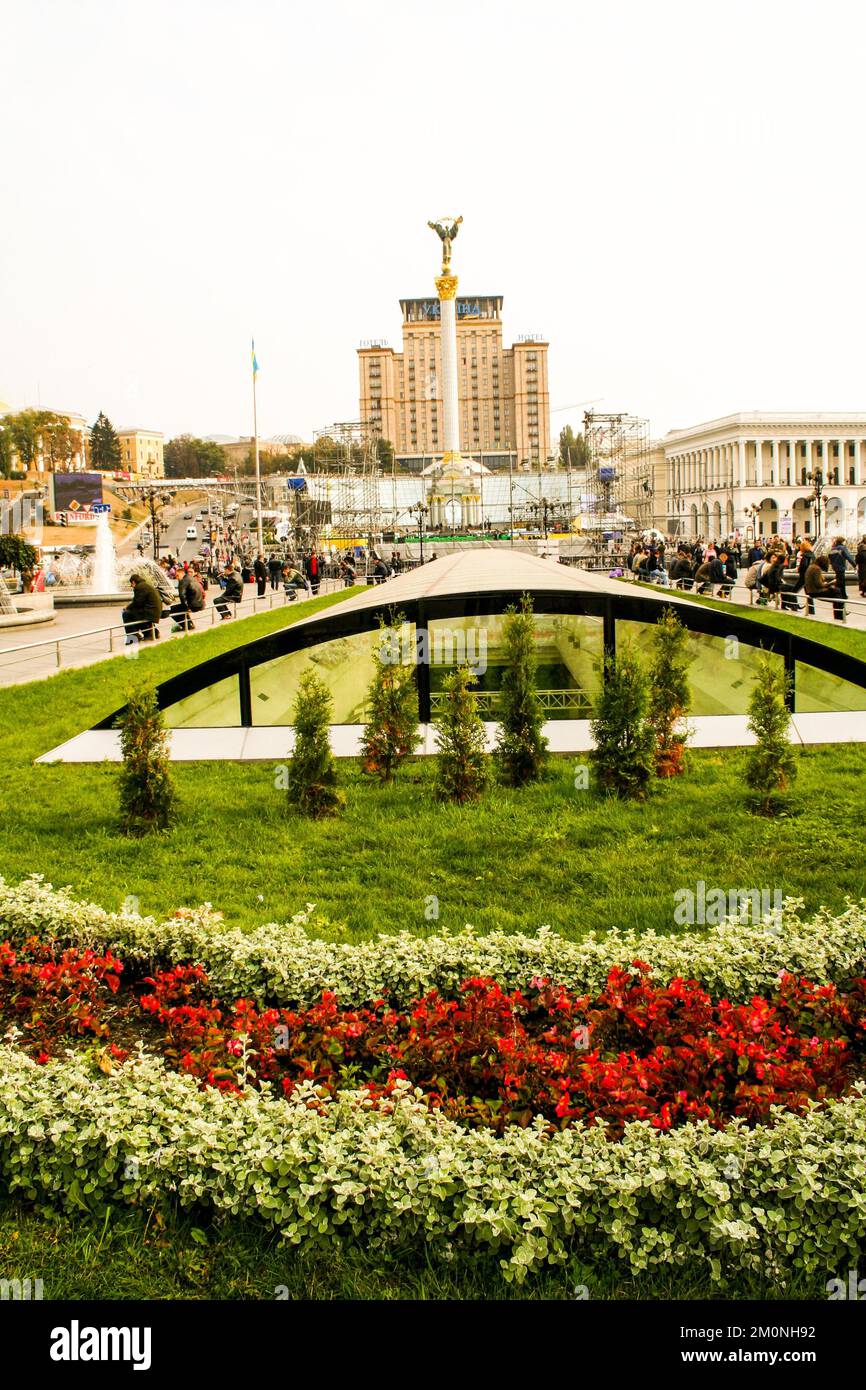
[[(145, 651), (135, 676), (164, 680), (342, 596)], [(837, 642), (862, 638), (765, 612), (756, 617)], [(866, 895), (866, 748), (853, 745), (801, 752), (790, 810), (776, 820), (748, 810), (741, 751), (691, 755), (688, 776), (659, 784), (646, 805), (577, 791), (574, 758), (556, 759), (537, 787), (492, 785), (468, 808), (434, 802), (431, 760), (413, 762), (393, 788), (371, 784), (356, 762), (341, 763), (346, 812), (324, 823), (292, 815), (270, 764), (179, 764), (177, 828), (126, 840), (117, 830), (115, 767), (35, 766), (33, 759), (120, 706), (129, 666), (118, 657), (0, 691), (0, 870), (8, 878), (39, 872), (106, 908), (135, 895), (140, 910), (153, 913), (209, 899), (243, 926), (316, 902), (343, 924), (345, 940), (467, 922), (505, 930), (550, 923), (569, 935), (612, 926), (676, 930), (674, 891), (699, 878), (726, 890), (780, 888), (803, 897), (808, 908)], [(432, 897), (434, 920), (425, 915)], [(19, 1202), (0, 1205), (0, 1270), (43, 1277), (46, 1297), (271, 1298), (279, 1284), (292, 1297), (314, 1298), (573, 1298), (577, 1284), (599, 1298), (713, 1293), (694, 1273), (634, 1279), (610, 1265), (571, 1265), (516, 1289), (502, 1282), (495, 1262), (455, 1270), (364, 1252), (299, 1257), (259, 1227), (203, 1215), (132, 1211), (101, 1223)], [(769, 1298), (774, 1290), (742, 1283), (728, 1295)]]

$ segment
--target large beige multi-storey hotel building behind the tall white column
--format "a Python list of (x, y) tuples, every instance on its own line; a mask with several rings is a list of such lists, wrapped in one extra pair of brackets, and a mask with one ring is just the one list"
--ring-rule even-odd
[[(399, 457), (430, 460), (445, 448), (439, 300), (402, 299), (400, 310), (402, 353), (381, 341), (359, 348), (360, 414)], [(546, 461), (548, 342), (527, 335), (503, 345), (502, 295), (460, 295), (456, 317), (461, 452)]]

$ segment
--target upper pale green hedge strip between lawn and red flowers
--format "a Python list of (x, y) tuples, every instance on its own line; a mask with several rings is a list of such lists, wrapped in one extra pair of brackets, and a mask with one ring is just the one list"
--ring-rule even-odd
[(243, 995), (293, 1008), (316, 1004), (324, 990), (348, 1006), (373, 999), (405, 1006), (428, 990), (453, 997), (463, 980), (475, 976), (509, 990), (545, 976), (578, 992), (599, 991), (614, 966), (635, 956), (656, 980), (695, 979), (710, 994), (737, 1001), (771, 992), (783, 972), (822, 984), (866, 973), (866, 902), (838, 915), (822, 910), (808, 922), (799, 909), (790, 899), (778, 924), (728, 922), (702, 935), (607, 931), (569, 941), (545, 927), (534, 937), (467, 929), (439, 937), (402, 931), (343, 945), (309, 935), (311, 909), (245, 933), (225, 927), (207, 905), (158, 923), (78, 902), (40, 878), (17, 887), (0, 878), (0, 937), (13, 942), (32, 934), (53, 937), (114, 949), (150, 970), (200, 962), (221, 998)]

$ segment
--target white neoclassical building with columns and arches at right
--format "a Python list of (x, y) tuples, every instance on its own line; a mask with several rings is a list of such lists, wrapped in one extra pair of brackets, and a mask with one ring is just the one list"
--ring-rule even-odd
[(745, 411), (663, 445), (671, 535), (866, 534), (866, 413)]

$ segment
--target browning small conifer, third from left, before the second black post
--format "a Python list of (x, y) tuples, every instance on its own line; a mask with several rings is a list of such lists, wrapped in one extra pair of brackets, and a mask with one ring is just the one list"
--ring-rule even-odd
[(364, 771), (379, 781), (393, 781), (400, 764), (414, 753), (418, 734), (416, 669), (402, 660), (402, 614), (379, 626), (373, 652), (374, 673), (367, 695), (370, 710), (361, 753)]

